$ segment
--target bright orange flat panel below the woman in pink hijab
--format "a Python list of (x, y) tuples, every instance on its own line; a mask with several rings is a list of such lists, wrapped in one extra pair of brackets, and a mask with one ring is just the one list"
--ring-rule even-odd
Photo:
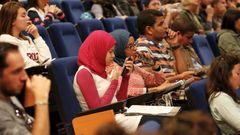
[(95, 135), (102, 125), (110, 122), (115, 122), (113, 110), (80, 116), (72, 123), (75, 135)]

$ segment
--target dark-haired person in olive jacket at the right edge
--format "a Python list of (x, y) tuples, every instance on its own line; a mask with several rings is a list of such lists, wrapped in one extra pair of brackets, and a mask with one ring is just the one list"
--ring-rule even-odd
[(221, 54), (240, 51), (240, 10), (229, 9), (223, 17), (222, 30), (218, 33)]

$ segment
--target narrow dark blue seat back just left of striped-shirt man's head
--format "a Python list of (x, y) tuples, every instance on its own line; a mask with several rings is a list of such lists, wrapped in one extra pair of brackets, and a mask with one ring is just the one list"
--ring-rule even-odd
[(137, 16), (129, 16), (125, 19), (125, 23), (128, 27), (129, 32), (133, 35), (136, 40), (139, 37), (139, 32), (137, 30)]

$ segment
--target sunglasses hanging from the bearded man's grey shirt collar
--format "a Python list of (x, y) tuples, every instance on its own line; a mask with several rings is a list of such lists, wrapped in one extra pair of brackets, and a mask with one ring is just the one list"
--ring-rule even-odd
[[(12, 102), (11, 102), (12, 103)], [(25, 126), (26, 128), (31, 131), (33, 128), (33, 123), (34, 120), (31, 119), (28, 114), (21, 108), (19, 108), (18, 106), (16, 106), (14, 103), (12, 103), (13, 108), (15, 110), (15, 116), (18, 117), (19, 119), (22, 119), (25, 122)]]

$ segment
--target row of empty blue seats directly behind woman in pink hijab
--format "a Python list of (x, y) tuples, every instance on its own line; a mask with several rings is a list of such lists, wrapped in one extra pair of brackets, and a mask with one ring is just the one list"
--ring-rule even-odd
[(125, 29), (134, 30), (137, 33), (134, 25), (135, 21), (136, 17), (129, 17), (126, 19), (126, 24), (128, 24), (126, 25), (124, 20), (120, 18), (106, 18), (102, 21), (97, 19), (82, 20), (77, 23), (76, 27), (72, 23), (65, 22), (53, 23), (47, 30), (42, 26), (37, 26), (37, 28), (49, 46), (52, 57), (60, 58), (77, 56), (82, 41), (95, 30), (112, 32), (115, 29)]

